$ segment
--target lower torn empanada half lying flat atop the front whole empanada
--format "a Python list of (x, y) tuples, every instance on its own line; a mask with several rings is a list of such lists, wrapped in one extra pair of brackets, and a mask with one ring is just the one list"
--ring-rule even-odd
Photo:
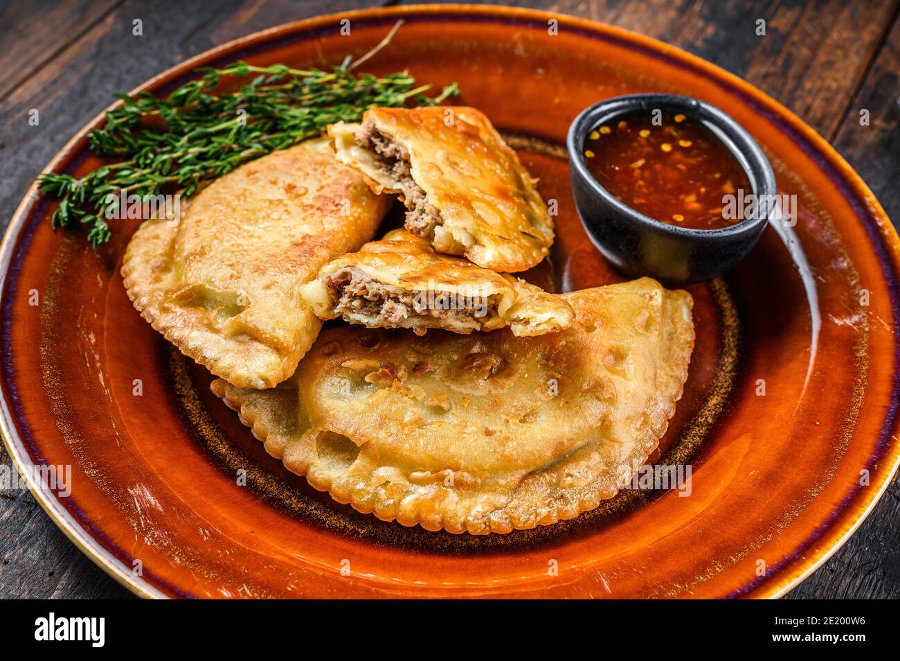
[(540, 335), (566, 328), (574, 316), (561, 296), (440, 255), (406, 230), (332, 259), (301, 295), (320, 319), (410, 328), (420, 335), (429, 328), (471, 333), (505, 326), (514, 335)]

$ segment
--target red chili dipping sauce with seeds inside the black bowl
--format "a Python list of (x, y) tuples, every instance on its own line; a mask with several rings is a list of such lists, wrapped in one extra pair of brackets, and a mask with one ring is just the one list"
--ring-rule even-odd
[(723, 197), (753, 192), (732, 152), (685, 114), (656, 113), (656, 124), (653, 116), (625, 113), (591, 131), (584, 143), (590, 174), (620, 202), (660, 222), (695, 230), (741, 222), (723, 213)]

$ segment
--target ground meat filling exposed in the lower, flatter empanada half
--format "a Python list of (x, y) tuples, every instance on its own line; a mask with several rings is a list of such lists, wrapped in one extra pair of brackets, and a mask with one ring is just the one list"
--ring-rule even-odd
[(374, 316), (383, 325), (404, 328), (436, 328), (478, 331), (484, 321), (497, 316), (500, 295), (484, 298), (408, 292), (375, 281), (357, 268), (342, 268), (325, 281), (335, 312)]

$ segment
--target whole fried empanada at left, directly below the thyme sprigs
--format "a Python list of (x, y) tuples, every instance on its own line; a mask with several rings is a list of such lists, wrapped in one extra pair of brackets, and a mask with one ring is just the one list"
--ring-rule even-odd
[(180, 222), (145, 221), (121, 275), (166, 340), (234, 385), (291, 376), (321, 321), (300, 287), (372, 239), (389, 201), (328, 140), (275, 151), (220, 177)]

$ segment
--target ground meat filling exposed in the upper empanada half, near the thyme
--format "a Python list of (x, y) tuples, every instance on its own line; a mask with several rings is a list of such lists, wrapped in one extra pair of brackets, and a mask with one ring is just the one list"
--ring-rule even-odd
[(441, 214), (428, 204), (425, 191), (412, 180), (410, 152), (375, 128), (374, 122), (365, 122), (356, 133), (356, 144), (374, 152), (376, 165), (384, 174), (400, 182), (406, 204), (406, 227), (413, 234), (426, 240), (434, 240), (435, 228), (443, 223)]

